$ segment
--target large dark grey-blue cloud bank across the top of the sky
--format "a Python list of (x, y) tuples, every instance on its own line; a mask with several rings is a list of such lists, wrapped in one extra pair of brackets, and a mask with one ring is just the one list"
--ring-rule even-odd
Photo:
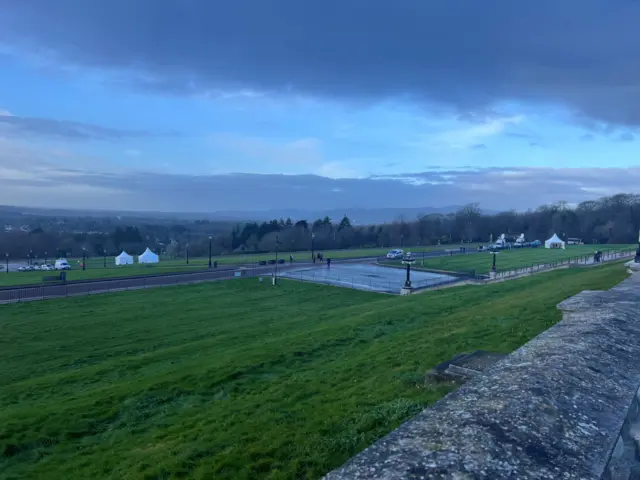
[(584, 122), (640, 124), (636, 1), (3, 4), (0, 43), (137, 72), (139, 88), (402, 97), (461, 112), (516, 100), (564, 105)]

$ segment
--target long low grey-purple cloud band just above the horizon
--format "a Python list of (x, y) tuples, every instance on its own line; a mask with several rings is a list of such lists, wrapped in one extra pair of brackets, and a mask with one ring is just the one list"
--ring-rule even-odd
[(0, 204), (166, 212), (446, 207), (480, 202), (493, 210), (583, 200), (635, 191), (640, 167), (629, 169), (486, 168), (364, 179), (317, 175), (172, 175), (133, 169), (96, 171), (84, 158), (58, 154), (63, 166), (28, 147), (0, 142)]

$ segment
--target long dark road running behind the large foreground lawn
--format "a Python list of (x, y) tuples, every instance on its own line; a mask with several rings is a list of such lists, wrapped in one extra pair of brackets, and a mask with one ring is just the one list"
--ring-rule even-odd
[[(472, 253), (472, 252), (467, 252)], [(438, 257), (449, 255), (445, 251), (426, 252), (424, 257)], [(422, 254), (416, 255), (417, 259)], [(335, 263), (368, 263), (376, 261), (378, 257), (360, 257), (351, 259), (336, 259)], [(278, 271), (291, 270), (314, 265), (311, 262), (295, 262), (293, 264), (278, 265)], [(315, 264), (323, 268), (323, 264)], [(77, 280), (66, 283), (40, 284), (40, 285), (16, 285), (0, 287), (0, 304), (24, 302), (30, 300), (42, 300), (47, 298), (70, 297), (76, 295), (90, 295), (123, 290), (135, 290), (140, 288), (153, 288), (167, 285), (181, 285), (206, 281), (228, 280), (237, 276), (255, 277), (273, 273), (274, 265), (257, 266), (223, 266), (212, 270), (199, 270), (197, 272), (175, 272), (158, 275), (140, 275), (135, 277), (116, 277), (92, 280)]]

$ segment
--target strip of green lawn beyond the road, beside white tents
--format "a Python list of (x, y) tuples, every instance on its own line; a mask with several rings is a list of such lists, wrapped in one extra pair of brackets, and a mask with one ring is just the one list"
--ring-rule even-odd
[[(427, 252), (432, 250), (442, 250), (444, 248), (451, 248), (445, 246), (429, 246), (418, 247), (411, 249), (412, 252)], [(324, 251), (326, 257), (333, 259), (350, 258), (350, 257), (366, 257), (366, 256), (382, 256), (390, 249), (387, 248), (362, 248), (362, 249), (349, 249), (349, 250), (332, 250)], [(311, 260), (311, 252), (280, 252), (279, 258), (289, 260), (289, 255), (293, 255), (294, 259), (298, 261)], [(229, 265), (240, 265), (248, 263), (257, 263), (260, 260), (271, 260), (275, 258), (274, 253), (265, 254), (247, 254), (247, 255), (221, 255), (214, 257), (213, 259), (218, 262), (219, 267)], [(53, 263), (52, 259), (51, 262)], [(195, 271), (203, 268), (207, 268), (209, 264), (209, 258), (190, 258), (187, 265), (185, 259), (167, 259), (161, 258), (160, 262), (155, 265), (139, 265), (134, 263), (133, 265), (124, 265), (117, 267), (114, 265), (113, 257), (107, 257), (107, 266), (104, 266), (104, 258), (95, 257), (90, 258), (87, 261), (87, 269), (82, 270), (80, 262), (82, 259), (73, 258), (68, 259), (73, 269), (67, 272), (67, 280), (84, 280), (95, 278), (109, 278), (109, 277), (121, 277), (121, 276), (133, 276), (133, 275), (152, 275), (165, 272), (184, 272)], [(134, 257), (135, 260), (135, 257)], [(25, 285), (31, 283), (40, 283), (45, 276), (56, 275), (56, 272), (9, 272), (5, 273), (0, 269), (0, 286), (8, 285)]]

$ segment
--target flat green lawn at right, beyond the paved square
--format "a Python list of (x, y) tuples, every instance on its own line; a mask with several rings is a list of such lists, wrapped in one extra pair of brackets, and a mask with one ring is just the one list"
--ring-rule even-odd
[[(569, 245), (566, 250), (546, 248), (514, 248), (501, 250), (496, 258), (498, 270), (512, 270), (538, 263), (551, 263), (568, 258), (591, 256), (596, 249), (606, 251), (630, 251), (635, 250), (635, 245)], [(467, 255), (442, 256), (437, 258), (425, 258), (424, 267), (436, 270), (470, 271), (476, 273), (488, 273), (493, 262), (490, 253), (472, 253)], [(393, 262), (400, 264), (400, 261)], [(416, 257), (416, 268), (423, 265), (422, 259)]]

